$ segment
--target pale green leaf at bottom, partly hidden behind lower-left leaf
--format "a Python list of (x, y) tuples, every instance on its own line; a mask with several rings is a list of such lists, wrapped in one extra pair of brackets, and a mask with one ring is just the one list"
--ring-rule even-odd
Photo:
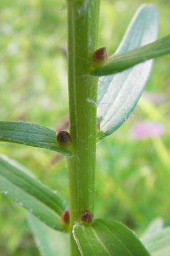
[(27, 220), (41, 256), (69, 255), (69, 234), (50, 229), (29, 213)]

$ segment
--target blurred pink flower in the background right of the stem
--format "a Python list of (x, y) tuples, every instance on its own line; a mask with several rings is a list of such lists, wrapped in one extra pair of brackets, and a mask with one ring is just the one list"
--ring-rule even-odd
[(164, 134), (164, 126), (159, 122), (142, 121), (131, 127), (129, 134), (135, 139), (159, 137)]

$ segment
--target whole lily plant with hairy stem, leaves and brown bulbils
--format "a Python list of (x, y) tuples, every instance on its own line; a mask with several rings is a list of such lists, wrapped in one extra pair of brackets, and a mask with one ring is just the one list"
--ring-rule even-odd
[(142, 5), (116, 52), (107, 57), (105, 46), (97, 48), (99, 6), (100, 0), (67, 0), (69, 133), (35, 123), (0, 122), (0, 141), (66, 156), (69, 205), (4, 155), (0, 156), (0, 191), (27, 210), (42, 256), (169, 255), (161, 242), (155, 243), (168, 236), (164, 229), (159, 228), (157, 236), (146, 232), (139, 240), (116, 220), (94, 218), (96, 143), (129, 117), (150, 76), (153, 59), (170, 53), (170, 36), (156, 40), (156, 7)]

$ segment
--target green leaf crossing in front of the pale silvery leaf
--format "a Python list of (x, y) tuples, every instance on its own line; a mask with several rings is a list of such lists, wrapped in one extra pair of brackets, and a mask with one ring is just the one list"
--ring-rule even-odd
[(134, 65), (170, 53), (170, 35), (125, 53), (110, 57), (101, 68), (91, 72), (94, 76), (105, 76), (124, 71)]

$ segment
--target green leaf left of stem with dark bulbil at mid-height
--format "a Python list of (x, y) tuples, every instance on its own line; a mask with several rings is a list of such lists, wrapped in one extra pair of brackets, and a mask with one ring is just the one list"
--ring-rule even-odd
[(35, 123), (0, 122), (0, 141), (47, 148), (67, 156), (73, 155), (70, 150), (59, 147), (56, 136), (56, 131)]

